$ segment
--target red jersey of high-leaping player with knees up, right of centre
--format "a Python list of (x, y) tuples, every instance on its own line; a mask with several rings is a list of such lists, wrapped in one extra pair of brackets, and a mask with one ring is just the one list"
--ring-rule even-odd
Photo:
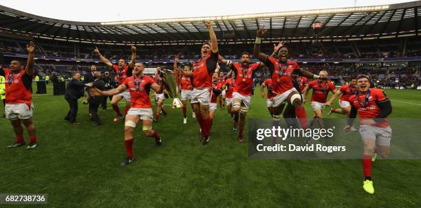
[(292, 88), (292, 74), (297, 73), (300, 70), (299, 65), (294, 62), (287, 60), (285, 64), (279, 63), (278, 60), (272, 56), (268, 56), (265, 62), (266, 66), (272, 75), (272, 92), (281, 95)]

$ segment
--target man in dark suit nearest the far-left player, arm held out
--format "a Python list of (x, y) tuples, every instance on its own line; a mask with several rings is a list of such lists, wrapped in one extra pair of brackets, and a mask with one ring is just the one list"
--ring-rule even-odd
[(69, 113), (67, 113), (65, 120), (70, 124), (78, 124), (76, 122), (76, 115), (78, 113), (78, 99), (83, 96), (83, 88), (85, 86), (92, 86), (92, 83), (85, 84), (80, 82), (80, 73), (73, 72), (72, 80), (67, 83), (65, 92), (65, 100), (69, 103)]

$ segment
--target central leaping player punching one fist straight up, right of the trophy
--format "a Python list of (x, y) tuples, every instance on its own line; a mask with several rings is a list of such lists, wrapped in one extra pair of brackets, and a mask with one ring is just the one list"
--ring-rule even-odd
[(209, 141), (210, 119), (209, 103), (210, 90), (212, 89), (211, 76), (217, 67), (218, 42), (212, 23), (206, 21), (209, 30), (210, 43), (202, 45), (200, 58), (193, 63), (193, 71), (182, 71), (182, 75), (193, 78), (193, 91), (191, 93), (191, 103), (195, 111), (197, 122), (202, 129), (203, 144)]

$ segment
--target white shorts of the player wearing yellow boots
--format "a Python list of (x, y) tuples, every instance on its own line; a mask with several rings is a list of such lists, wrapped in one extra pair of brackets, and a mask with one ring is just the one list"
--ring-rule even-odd
[(360, 125), (362, 139), (374, 139), (379, 146), (390, 146), (391, 128), (380, 128), (371, 125)]

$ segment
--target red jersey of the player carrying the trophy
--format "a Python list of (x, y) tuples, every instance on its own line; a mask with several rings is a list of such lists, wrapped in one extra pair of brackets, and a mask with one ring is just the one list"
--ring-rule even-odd
[(155, 81), (146, 75), (140, 78), (131, 76), (125, 79), (125, 82), (122, 84), (130, 92), (131, 108), (152, 108), (149, 92), (151, 91), (151, 85), (154, 83)]

